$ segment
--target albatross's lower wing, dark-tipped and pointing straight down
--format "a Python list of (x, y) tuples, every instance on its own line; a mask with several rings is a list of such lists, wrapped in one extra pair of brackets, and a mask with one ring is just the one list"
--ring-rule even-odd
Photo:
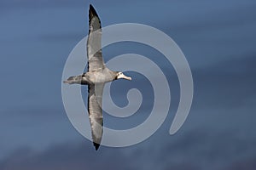
[(88, 86), (88, 112), (93, 144), (98, 150), (103, 133), (102, 92), (104, 83)]

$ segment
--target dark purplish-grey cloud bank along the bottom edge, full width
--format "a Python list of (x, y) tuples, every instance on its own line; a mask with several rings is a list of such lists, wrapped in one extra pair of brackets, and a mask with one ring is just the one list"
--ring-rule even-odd
[(229, 170), (248, 167), (250, 170), (255, 168), (253, 144), (253, 138), (241, 138), (231, 130), (209, 132), (201, 127), (169, 136), (161, 129), (142, 144), (119, 149), (101, 146), (96, 151), (87, 140), (54, 144), (41, 151), (23, 147), (4, 157), (0, 168)]

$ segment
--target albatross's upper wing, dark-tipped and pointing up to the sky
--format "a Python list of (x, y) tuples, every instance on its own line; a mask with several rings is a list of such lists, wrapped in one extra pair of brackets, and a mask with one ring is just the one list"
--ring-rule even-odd
[(90, 5), (89, 35), (87, 39), (88, 71), (98, 71), (104, 67), (102, 59), (102, 26), (95, 8)]

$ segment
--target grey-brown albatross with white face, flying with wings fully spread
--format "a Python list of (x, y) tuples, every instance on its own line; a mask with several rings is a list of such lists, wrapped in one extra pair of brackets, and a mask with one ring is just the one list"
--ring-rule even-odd
[(102, 26), (95, 8), (89, 9), (89, 36), (87, 39), (88, 71), (82, 75), (69, 77), (68, 84), (88, 85), (88, 112), (93, 144), (98, 150), (103, 133), (102, 92), (106, 82), (120, 78), (131, 80), (120, 71), (111, 71), (102, 58)]

